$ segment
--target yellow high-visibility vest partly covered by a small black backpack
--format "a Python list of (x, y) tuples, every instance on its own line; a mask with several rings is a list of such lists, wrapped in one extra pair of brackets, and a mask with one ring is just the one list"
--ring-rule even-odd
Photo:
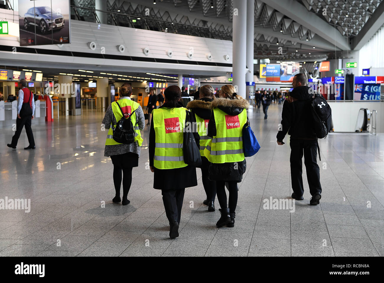
[[(112, 102), (112, 104), (111, 104), (112, 112), (113, 112), (113, 115), (116, 118), (116, 122), (120, 121), (120, 119), (122, 118), (122, 113), (121, 113), (119, 105), (117, 105), (117, 103), (119, 103), (119, 105), (120, 105), (120, 107), (121, 107), (121, 109), (122, 109), (122, 111), (124, 113), (129, 113), (129, 114), (131, 114), (134, 110), (136, 110), (140, 106), (140, 104), (138, 104), (137, 102), (134, 102), (133, 100), (130, 100), (130, 99), (119, 99), (118, 101)], [(133, 128), (135, 130), (135, 141), (137, 141), (137, 144), (139, 146), (141, 146), (142, 142), (143, 142), (143, 139), (142, 139), (141, 134), (140, 134), (139, 126), (135, 127), (135, 124), (136, 124), (136, 112), (134, 112), (132, 114), (131, 122), (132, 122)], [(113, 125), (113, 123), (111, 123), (111, 125), (112, 126), (108, 130), (107, 140), (105, 141), (105, 145), (106, 146), (113, 146), (113, 145), (116, 145), (116, 144), (121, 144), (119, 142), (116, 142), (113, 139), (113, 137), (112, 137), (113, 136), (112, 127), (113, 127), (113, 129), (115, 129), (116, 125)]]

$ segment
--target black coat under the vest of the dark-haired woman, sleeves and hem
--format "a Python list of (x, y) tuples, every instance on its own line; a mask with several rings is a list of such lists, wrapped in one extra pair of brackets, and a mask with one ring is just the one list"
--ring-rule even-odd
[[(164, 103), (159, 108), (167, 107), (167, 103)], [(184, 107), (178, 102), (177, 108)], [(191, 122), (196, 122), (195, 116), (190, 115)], [(200, 136), (197, 132), (194, 132), (195, 141), (197, 146), (200, 144)], [(156, 132), (153, 127), (153, 115), (151, 121), (151, 129), (149, 130), (149, 166), (153, 167), (153, 160), (155, 156), (155, 143), (156, 143)], [(190, 165), (175, 168), (175, 169), (157, 169), (155, 168), (153, 188), (159, 190), (169, 189), (184, 189), (189, 187), (197, 186), (196, 167)]]

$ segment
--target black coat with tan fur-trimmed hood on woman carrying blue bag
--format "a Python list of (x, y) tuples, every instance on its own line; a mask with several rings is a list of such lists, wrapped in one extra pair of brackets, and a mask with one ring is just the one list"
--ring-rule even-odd
[[(249, 102), (242, 97), (236, 95), (234, 99), (218, 98), (212, 102), (211, 109), (215, 107), (224, 111), (225, 113), (235, 116), (242, 111), (246, 111), (249, 107)], [(247, 118), (248, 119), (248, 118)], [(217, 134), (215, 115), (212, 111), (208, 123), (208, 136), (214, 137)], [(240, 183), (243, 179), (243, 174), (247, 169), (247, 162), (245, 158), (240, 162), (225, 162), (225, 163), (212, 163), (209, 166), (209, 179), (215, 181), (236, 181)]]

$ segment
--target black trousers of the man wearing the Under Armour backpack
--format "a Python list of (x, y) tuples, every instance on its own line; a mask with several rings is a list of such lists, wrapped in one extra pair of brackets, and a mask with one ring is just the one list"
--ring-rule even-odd
[(310, 193), (321, 194), (320, 168), (317, 164), (317, 140), (291, 139), (291, 179), (292, 189), (296, 196), (304, 194), (303, 189), (303, 154)]

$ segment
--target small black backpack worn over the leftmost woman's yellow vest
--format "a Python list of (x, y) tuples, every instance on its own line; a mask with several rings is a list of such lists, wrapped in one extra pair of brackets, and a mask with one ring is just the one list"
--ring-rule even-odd
[[(118, 102), (116, 102), (116, 104), (120, 108), (122, 117), (117, 122), (116, 128), (113, 129), (113, 127), (112, 127), (112, 131), (113, 131), (112, 138), (114, 139), (114, 141), (119, 142), (120, 144), (131, 144), (132, 142), (135, 141), (135, 129), (137, 126), (137, 122), (135, 121), (136, 124), (135, 124), (135, 127), (133, 127), (131, 116), (136, 111), (136, 109), (134, 111), (132, 111), (131, 114), (124, 113), (124, 112), (122, 112), (120, 104)], [(126, 116), (128, 116), (128, 117), (124, 118)]]

